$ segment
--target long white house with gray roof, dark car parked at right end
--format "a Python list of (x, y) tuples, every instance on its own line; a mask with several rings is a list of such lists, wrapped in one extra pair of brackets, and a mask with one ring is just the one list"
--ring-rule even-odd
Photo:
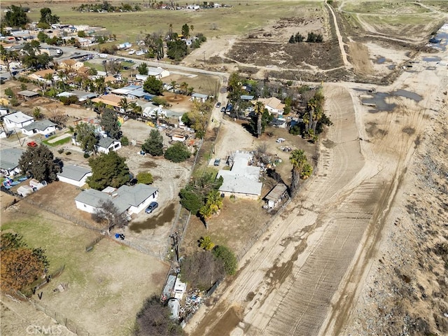
[(121, 213), (138, 214), (157, 200), (158, 188), (139, 183), (137, 186), (106, 188), (103, 191), (87, 189), (75, 197), (76, 208), (93, 214), (102, 201), (110, 200)]

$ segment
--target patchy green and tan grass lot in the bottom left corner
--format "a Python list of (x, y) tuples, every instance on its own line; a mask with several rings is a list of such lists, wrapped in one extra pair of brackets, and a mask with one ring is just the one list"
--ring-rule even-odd
[[(61, 198), (64, 194), (58, 195)], [(43, 207), (20, 201), (13, 209), (2, 210), (7, 216), (1, 217), (2, 231), (18, 232), (29, 246), (45, 248), (50, 272), (65, 265), (64, 272), (41, 289), (42, 300), (37, 295), (34, 299), (48, 311), (57, 311), (58, 321), (69, 318), (91, 334), (130, 335), (141, 303), (145, 297), (160, 292), (169, 266), (109, 239), (103, 239), (86, 253), (85, 246), (97, 234), (68, 223)], [(132, 269), (129, 265), (133, 265)], [(53, 290), (59, 283), (64, 283), (67, 290)], [(25, 302), (17, 304), (3, 296), (1, 300), (2, 335), (27, 335), (29, 323), (55, 325), (41, 312), (33, 314)], [(15, 323), (8, 322), (6, 316)], [(63, 335), (70, 335), (64, 332)]]

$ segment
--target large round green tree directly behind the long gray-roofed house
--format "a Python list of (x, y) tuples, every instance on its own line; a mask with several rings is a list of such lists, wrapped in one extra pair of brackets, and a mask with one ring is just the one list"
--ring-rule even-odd
[(103, 190), (108, 186), (118, 188), (130, 179), (125, 158), (114, 151), (90, 158), (89, 165), (92, 168), (92, 176), (87, 178), (90, 188), (97, 190)]

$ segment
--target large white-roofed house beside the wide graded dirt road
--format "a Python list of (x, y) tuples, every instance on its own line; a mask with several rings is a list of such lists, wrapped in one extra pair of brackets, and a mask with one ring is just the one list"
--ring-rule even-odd
[(248, 165), (253, 155), (251, 153), (235, 153), (232, 169), (220, 170), (219, 178), (223, 176), (223, 185), (219, 191), (225, 196), (242, 197), (251, 200), (258, 200), (261, 195), (262, 183), (260, 178), (260, 167)]

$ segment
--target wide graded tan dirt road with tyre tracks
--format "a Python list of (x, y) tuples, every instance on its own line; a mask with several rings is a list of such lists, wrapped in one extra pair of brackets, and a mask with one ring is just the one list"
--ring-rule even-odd
[(432, 104), (444, 69), (426, 65), (378, 89), (417, 94), (388, 97), (396, 104), (391, 112), (367, 111), (358, 98), (363, 85), (324, 86), (334, 125), (321, 143), (314, 178), (241, 260), (235, 281), (218, 292), (220, 300), (187, 325), (190, 335), (337, 334), (414, 141), (437, 109)]

